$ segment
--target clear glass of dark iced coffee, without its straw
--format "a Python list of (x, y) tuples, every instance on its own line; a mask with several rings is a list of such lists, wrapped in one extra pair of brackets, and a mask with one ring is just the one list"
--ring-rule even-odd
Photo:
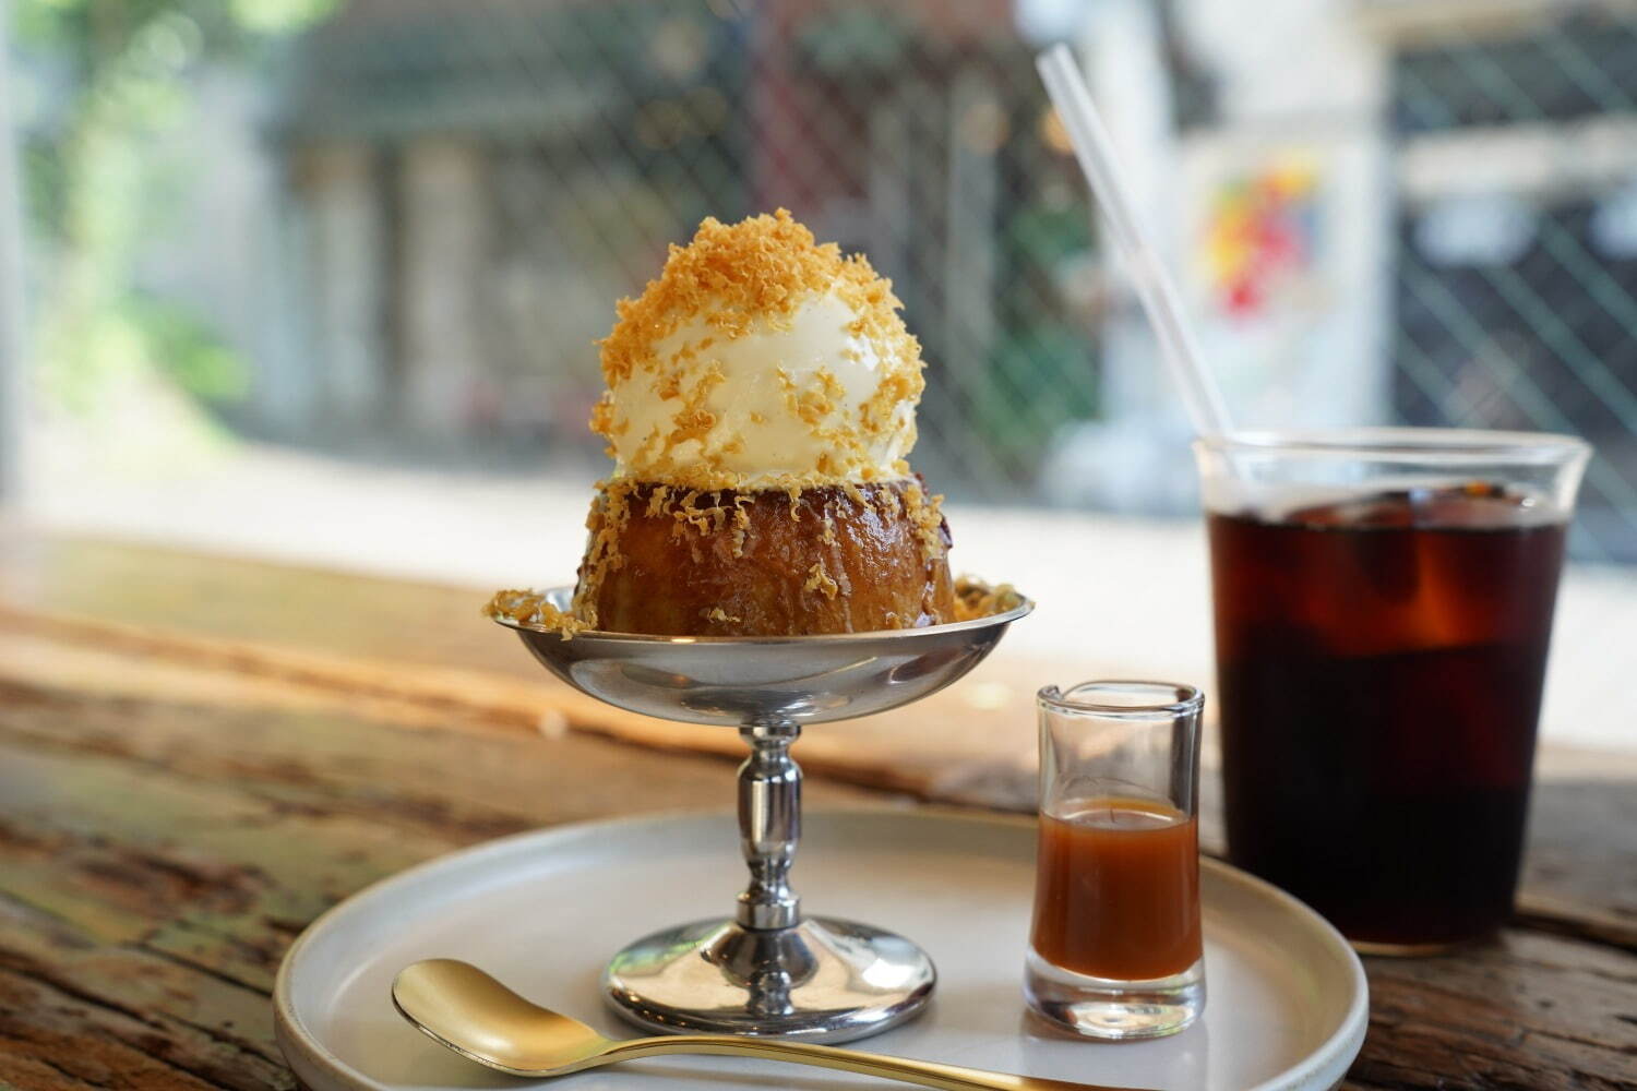
[(1228, 851), (1375, 954), (1513, 908), (1575, 492), (1573, 437), (1449, 429), (1195, 445)]

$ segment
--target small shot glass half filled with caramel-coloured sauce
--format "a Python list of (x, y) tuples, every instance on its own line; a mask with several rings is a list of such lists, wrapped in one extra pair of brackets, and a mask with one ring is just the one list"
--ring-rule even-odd
[(1169, 682), (1048, 685), (1023, 993), (1094, 1039), (1154, 1039), (1205, 1006), (1200, 712)]

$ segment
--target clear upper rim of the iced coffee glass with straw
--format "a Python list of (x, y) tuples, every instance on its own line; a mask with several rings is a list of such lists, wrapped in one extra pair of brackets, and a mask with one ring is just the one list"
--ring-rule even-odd
[(1485, 429), (1242, 429), (1202, 435), (1193, 447), (1213, 453), (1315, 455), (1333, 458), (1483, 458), (1522, 463), (1568, 463), (1591, 455), (1591, 445), (1560, 432)]

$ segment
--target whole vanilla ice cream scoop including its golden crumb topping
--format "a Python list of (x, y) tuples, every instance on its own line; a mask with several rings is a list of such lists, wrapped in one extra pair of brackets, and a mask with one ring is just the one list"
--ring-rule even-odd
[(774, 489), (909, 474), (920, 345), (859, 255), (779, 209), (706, 219), (602, 340), (617, 474)]

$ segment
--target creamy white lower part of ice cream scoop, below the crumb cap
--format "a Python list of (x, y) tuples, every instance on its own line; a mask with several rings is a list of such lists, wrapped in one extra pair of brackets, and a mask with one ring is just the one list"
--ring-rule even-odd
[[(848, 329), (856, 317), (825, 293), (732, 339), (699, 319), (681, 324), (655, 342), (655, 370), (609, 388), (620, 474), (665, 481), (706, 471), (750, 489), (791, 478), (904, 476), (915, 401), (884, 393), (895, 361)], [(706, 429), (701, 411), (710, 417)], [(876, 429), (866, 427), (871, 411)]]

